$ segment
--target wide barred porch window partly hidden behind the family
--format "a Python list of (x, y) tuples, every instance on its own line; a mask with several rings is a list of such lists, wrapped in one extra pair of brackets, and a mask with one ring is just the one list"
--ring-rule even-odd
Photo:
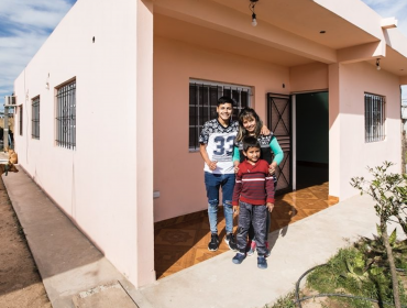
[(235, 101), (232, 120), (238, 120), (240, 110), (250, 107), (251, 95), (250, 87), (189, 79), (189, 152), (199, 151), (200, 131), (205, 122), (218, 117), (220, 97)]

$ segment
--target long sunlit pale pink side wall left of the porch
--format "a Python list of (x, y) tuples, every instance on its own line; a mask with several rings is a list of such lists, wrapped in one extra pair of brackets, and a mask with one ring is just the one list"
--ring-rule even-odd
[[(136, 286), (155, 279), (152, 29), (141, 0), (78, 1), (14, 85), (24, 114), (20, 164)], [(55, 87), (72, 78), (75, 151), (55, 144)], [(31, 99), (38, 95), (41, 139), (33, 140)]]

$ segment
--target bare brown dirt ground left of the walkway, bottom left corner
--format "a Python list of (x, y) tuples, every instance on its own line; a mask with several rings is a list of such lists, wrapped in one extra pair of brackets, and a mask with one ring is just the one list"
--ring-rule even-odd
[(0, 178), (0, 307), (52, 307), (2, 178)]

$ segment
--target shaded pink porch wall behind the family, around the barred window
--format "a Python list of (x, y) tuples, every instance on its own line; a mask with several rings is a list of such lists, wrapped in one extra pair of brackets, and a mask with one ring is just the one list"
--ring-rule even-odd
[(289, 94), (286, 67), (155, 36), (155, 221), (207, 209), (204, 161), (188, 152), (189, 78), (254, 87), (252, 106), (262, 119), (267, 92)]

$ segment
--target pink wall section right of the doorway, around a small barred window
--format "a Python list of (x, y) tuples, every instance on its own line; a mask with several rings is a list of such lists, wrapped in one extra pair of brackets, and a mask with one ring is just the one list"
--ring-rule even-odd
[[(331, 119), (333, 125), (339, 127), (330, 133), (330, 195), (346, 199), (359, 194), (350, 186), (354, 176), (369, 177), (366, 166), (377, 166), (384, 161), (396, 165), (392, 172), (399, 173), (400, 161), (400, 90), (398, 77), (384, 70), (376, 70), (375, 66), (366, 63), (339, 65), (339, 114)], [(364, 135), (364, 92), (381, 95), (386, 98), (386, 138), (381, 142), (365, 143)], [(332, 94), (332, 96), (334, 96)], [(331, 100), (337, 103), (338, 98)], [(338, 129), (338, 128), (337, 128)], [(339, 179), (332, 180), (334, 176)]]

